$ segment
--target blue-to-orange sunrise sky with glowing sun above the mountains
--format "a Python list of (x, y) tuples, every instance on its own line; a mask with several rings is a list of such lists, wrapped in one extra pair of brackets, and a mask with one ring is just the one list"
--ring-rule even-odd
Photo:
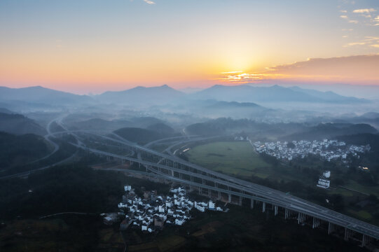
[(379, 85), (379, 1), (0, 1), (0, 85), (280, 82)]

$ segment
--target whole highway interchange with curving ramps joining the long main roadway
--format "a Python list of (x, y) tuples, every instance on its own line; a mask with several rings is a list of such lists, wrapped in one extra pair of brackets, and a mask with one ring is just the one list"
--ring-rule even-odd
[[(53, 120), (48, 124), (48, 129), (47, 129), (48, 135), (46, 136), (46, 139), (48, 139), (49, 142), (51, 141), (50, 140), (51, 137), (56, 137), (59, 134), (68, 133), (68, 134), (73, 135), (78, 140), (78, 144), (74, 144), (78, 148), (85, 149), (86, 151), (90, 151), (98, 155), (113, 157), (119, 160), (129, 160), (131, 162), (136, 162), (146, 167), (146, 172), (149, 171), (148, 173), (135, 171), (137, 173), (140, 173), (140, 174), (153, 173), (162, 179), (175, 181), (177, 183), (186, 184), (188, 186), (193, 186), (197, 188), (205, 188), (207, 190), (212, 190), (215, 192), (235, 195), (237, 197), (244, 197), (250, 200), (256, 200), (258, 202), (265, 202), (265, 204), (267, 203), (276, 207), (282, 207), (282, 209), (288, 209), (294, 213), (305, 214), (306, 216), (317, 218), (318, 220), (326, 221), (328, 223), (333, 223), (335, 225), (346, 228), (348, 230), (353, 230), (357, 233), (366, 235), (368, 237), (379, 239), (379, 228), (375, 225), (371, 225), (369, 223), (359, 221), (350, 216), (340, 214), (331, 209), (326, 209), (325, 207), (321, 207), (312, 202), (308, 202), (301, 198), (295, 197), (293, 195), (288, 195), (286, 193), (268, 188), (266, 186), (260, 186), (256, 183), (251, 183), (248, 181), (236, 179), (226, 174), (220, 174), (219, 172), (214, 172), (204, 167), (194, 165), (190, 162), (181, 160), (177, 156), (172, 155), (172, 153), (170, 152), (170, 149), (173, 146), (177, 146), (178, 144), (184, 144), (189, 141), (205, 140), (207, 139), (205, 137), (186, 136), (186, 137), (176, 137), (176, 139), (174, 138), (164, 139), (165, 141), (169, 141), (169, 140), (177, 141), (174, 145), (167, 148), (167, 151), (171, 155), (166, 155), (163, 153), (159, 153), (157, 151), (153, 151), (151, 150), (151, 148), (149, 148), (149, 146), (156, 143), (151, 143), (146, 146), (139, 146), (138, 144), (132, 143), (130, 141), (126, 141), (125, 139), (123, 139), (120, 136), (117, 136), (116, 134), (112, 134), (111, 136), (106, 136), (106, 135), (98, 134), (96, 132), (89, 132), (89, 131), (83, 131), (83, 130), (78, 130), (78, 131), (67, 130), (67, 128), (64, 127), (64, 125), (62, 125), (62, 118), (64, 117), (57, 118), (56, 120)], [(64, 131), (54, 132), (54, 133), (51, 132), (50, 127), (53, 122), (60, 125), (62, 129), (64, 129)], [(78, 137), (78, 133), (91, 134), (92, 136), (96, 136), (99, 139), (104, 139), (104, 141), (113, 141), (113, 143), (116, 143), (120, 146), (126, 146), (128, 148), (131, 148), (133, 152), (131, 155), (126, 156), (126, 155), (117, 155), (117, 154), (113, 154), (113, 153), (109, 153), (105, 151), (99, 151), (94, 148), (88, 148), (83, 144), (82, 141), (80, 141), (80, 137)], [(163, 139), (158, 140), (158, 141), (163, 141)], [(55, 144), (53, 144), (53, 146), (55, 146)], [(56, 146), (55, 146), (54, 152), (55, 151), (57, 151)], [(132, 158), (132, 156), (135, 154), (134, 151), (137, 152), (137, 158)], [(159, 158), (160, 162), (156, 163), (156, 162), (151, 162), (151, 160), (144, 160), (141, 153), (144, 153), (146, 155), (156, 156)], [(168, 160), (170, 161), (169, 163), (172, 165), (170, 164), (163, 165), (162, 160)], [(63, 161), (64, 160), (62, 160), (59, 163), (62, 163)], [(54, 165), (57, 165), (57, 164), (54, 164)], [(48, 167), (51, 167), (51, 166), (53, 165), (50, 165)], [(46, 169), (48, 167), (42, 167), (40, 169)], [(166, 172), (163, 172), (163, 171), (166, 171)], [(167, 172), (167, 171), (170, 171), (170, 172)], [(179, 177), (174, 176), (174, 173), (184, 174), (188, 177), (198, 178), (198, 179), (201, 179), (202, 181), (207, 181), (208, 183), (198, 183), (192, 180), (182, 179), (181, 176)], [(8, 177), (27, 176), (28, 174), (30, 174), (30, 172), (26, 172), (23, 174), (14, 174)], [(214, 186), (210, 186), (209, 183), (210, 184), (213, 183)], [(216, 185), (222, 185), (223, 188), (218, 187)]]

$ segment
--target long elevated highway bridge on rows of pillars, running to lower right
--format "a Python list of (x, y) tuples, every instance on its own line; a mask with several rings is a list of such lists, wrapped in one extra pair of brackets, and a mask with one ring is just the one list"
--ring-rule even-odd
[[(62, 132), (57, 132), (57, 134), (59, 133)], [(76, 136), (76, 132), (68, 131), (66, 133)], [(132, 158), (130, 156), (88, 148), (83, 146), (83, 144), (74, 144), (85, 151), (118, 159), (121, 162), (136, 163), (139, 167), (145, 169), (144, 172), (132, 170), (128, 170), (128, 172), (149, 174), (148, 176), (154, 177), (158, 181), (181, 183), (191, 190), (198, 190), (200, 194), (205, 193), (209, 197), (215, 197), (218, 200), (224, 199), (234, 204), (241, 205), (242, 200), (249, 200), (251, 208), (259, 206), (263, 212), (272, 209), (275, 216), (283, 213), (284, 218), (296, 218), (298, 223), (311, 223), (312, 228), (317, 228), (319, 225), (327, 225), (329, 234), (340, 232), (344, 234), (345, 240), (359, 239), (361, 246), (366, 246), (371, 239), (379, 239), (379, 228), (377, 226), (340, 214), (293, 195), (287, 195), (266, 186), (260, 186), (256, 183), (214, 172), (175, 156), (165, 155), (150, 148), (125, 141), (125, 139), (120, 137), (109, 137), (94, 132), (82, 131), (81, 133), (92, 134), (92, 136), (98, 137), (105, 142), (113, 142), (113, 145), (118, 144), (120, 148), (129, 148), (138, 153), (137, 158)], [(198, 139), (207, 138), (199, 137)], [(234, 200), (237, 199), (237, 202), (233, 202), (233, 198)]]

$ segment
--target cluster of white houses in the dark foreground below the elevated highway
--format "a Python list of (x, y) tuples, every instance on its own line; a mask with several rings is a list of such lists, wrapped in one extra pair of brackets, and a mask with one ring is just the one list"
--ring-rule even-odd
[(163, 229), (165, 224), (183, 225), (191, 219), (190, 211), (224, 211), (212, 201), (191, 201), (183, 188), (170, 190), (170, 195), (157, 195), (156, 191), (145, 191), (144, 198), (138, 197), (131, 186), (125, 186), (123, 202), (118, 208), (125, 215), (120, 224), (120, 229), (125, 230), (129, 226), (140, 228), (144, 232), (155, 232)]

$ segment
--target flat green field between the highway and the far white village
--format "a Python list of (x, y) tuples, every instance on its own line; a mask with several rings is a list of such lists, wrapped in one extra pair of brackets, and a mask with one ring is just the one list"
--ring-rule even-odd
[(273, 174), (270, 164), (263, 161), (246, 141), (220, 141), (195, 146), (186, 151), (189, 162), (214, 171), (240, 176), (259, 176), (263, 179)]

